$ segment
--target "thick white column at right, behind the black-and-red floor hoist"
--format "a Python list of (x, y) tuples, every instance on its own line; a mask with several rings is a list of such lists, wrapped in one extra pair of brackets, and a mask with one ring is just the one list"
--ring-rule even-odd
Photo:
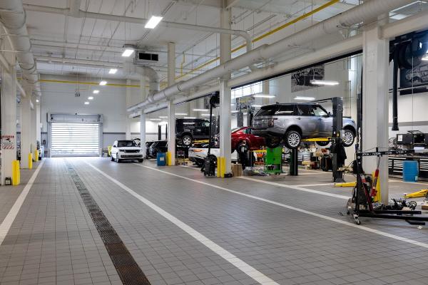
[[(389, 40), (381, 37), (379, 26), (363, 32), (363, 90), (362, 90), (362, 150), (387, 150), (388, 148), (388, 78)], [(372, 173), (377, 167), (377, 157), (365, 157), (363, 168)], [(379, 165), (379, 182), (382, 202), (388, 202), (388, 157), (383, 156)]]

